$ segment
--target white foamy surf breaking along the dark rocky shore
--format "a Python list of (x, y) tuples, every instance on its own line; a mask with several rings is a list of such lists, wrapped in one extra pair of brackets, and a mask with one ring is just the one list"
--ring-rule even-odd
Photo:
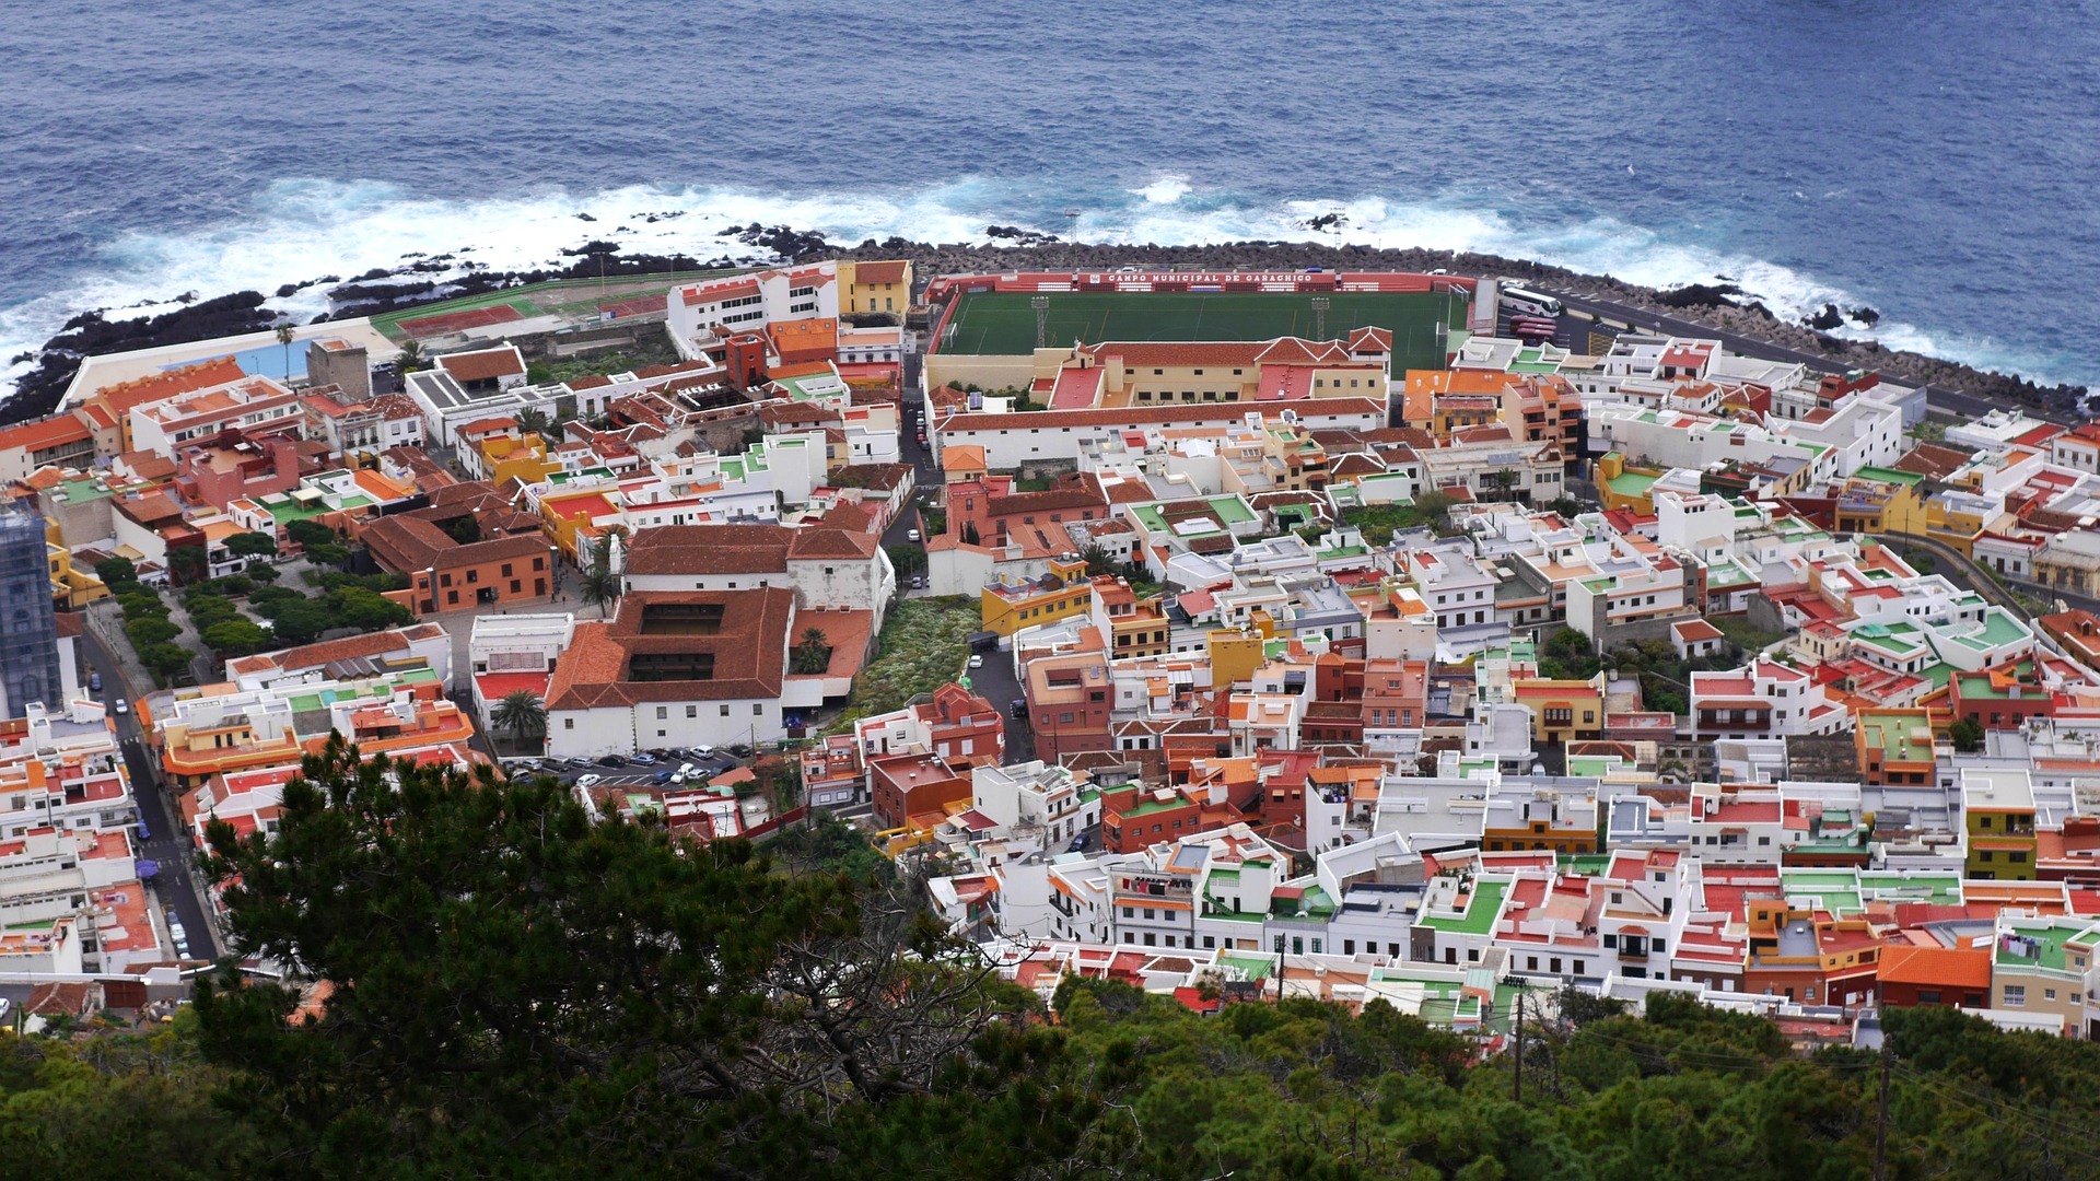
[[(126, 309), (153, 315), (185, 294), (275, 292), (321, 275), (359, 275), (418, 256), (456, 254), (498, 271), (561, 263), (561, 250), (615, 240), (624, 250), (695, 258), (748, 254), (722, 231), (750, 223), (823, 231), (832, 242), (907, 237), (985, 242), (987, 225), (1023, 225), (1098, 244), (1208, 246), (1245, 240), (1317, 240), (1378, 248), (1428, 248), (1535, 258), (1581, 273), (1676, 288), (1730, 279), (1783, 319), (1823, 305), (1867, 298), (1840, 284), (1621, 223), (1611, 216), (1537, 221), (1468, 198), (1258, 200), (1205, 191), (1178, 172), (1130, 189), (1042, 191), (987, 177), (895, 191), (760, 193), (733, 187), (632, 185), (594, 193), (544, 189), (494, 200), (437, 200), (376, 181), (286, 179), (269, 185), (237, 221), (200, 231), (132, 231), (105, 244), (92, 265), (61, 277), (38, 298), (0, 309), (0, 364), (36, 351), (74, 315)], [(584, 221), (584, 216), (590, 221)], [(1319, 225), (1321, 229), (1312, 229)], [(328, 311), (323, 288), (304, 288), (267, 307), (294, 319)], [(1890, 315), (1838, 334), (1875, 338), (1978, 368), (2045, 382), (2085, 382), (2083, 361), (2039, 355), (2016, 343), (1928, 328)], [(17, 376), (23, 366), (10, 366)]]

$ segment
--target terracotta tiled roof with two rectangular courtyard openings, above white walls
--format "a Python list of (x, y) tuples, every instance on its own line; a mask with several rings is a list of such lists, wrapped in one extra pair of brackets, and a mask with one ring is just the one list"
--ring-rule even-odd
[[(653, 605), (720, 605), (712, 635), (649, 635)], [(788, 672), (788, 626), (794, 590), (634, 590), (607, 622), (575, 626), (569, 649), (554, 662), (546, 687), (548, 710), (634, 706), (640, 702), (710, 702), (779, 698)], [(634, 656), (706, 654), (714, 670), (706, 681), (628, 681)]]

